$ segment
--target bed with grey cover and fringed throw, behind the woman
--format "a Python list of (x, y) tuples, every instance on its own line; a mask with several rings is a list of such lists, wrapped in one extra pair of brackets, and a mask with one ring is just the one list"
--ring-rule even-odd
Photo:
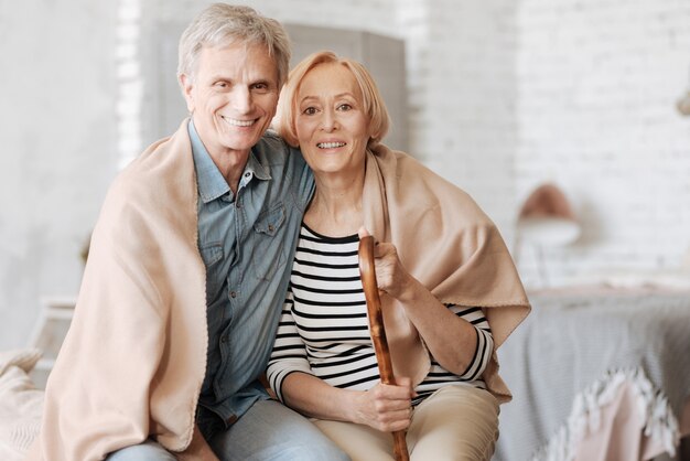
[[(498, 351), (496, 461), (688, 459), (690, 290), (532, 293)], [(666, 454), (665, 454), (666, 453)]]

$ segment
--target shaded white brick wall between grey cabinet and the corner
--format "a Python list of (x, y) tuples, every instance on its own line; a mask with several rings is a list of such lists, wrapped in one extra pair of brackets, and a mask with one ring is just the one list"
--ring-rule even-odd
[[(411, 7), (410, 7), (411, 8)], [(410, 43), (413, 150), (511, 233), (515, 2), (428, 0)], [(406, 17), (414, 24), (413, 15)], [(405, 26), (402, 26), (405, 29)]]

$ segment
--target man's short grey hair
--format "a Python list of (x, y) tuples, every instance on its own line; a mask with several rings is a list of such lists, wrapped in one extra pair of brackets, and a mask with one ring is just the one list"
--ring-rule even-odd
[(290, 39), (282, 24), (249, 7), (213, 3), (203, 10), (180, 37), (177, 77), (194, 78), (203, 46), (230, 43), (263, 44), (278, 67), (278, 88), (290, 69)]

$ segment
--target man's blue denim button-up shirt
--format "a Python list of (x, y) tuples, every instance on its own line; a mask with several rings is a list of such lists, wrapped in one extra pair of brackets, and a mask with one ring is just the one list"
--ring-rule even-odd
[(208, 439), (268, 398), (257, 378), (271, 353), (288, 261), (314, 181), (300, 151), (267, 132), (251, 149), (233, 194), (191, 121), (188, 132), (198, 184), (198, 248), (206, 266), (208, 350), (198, 425)]

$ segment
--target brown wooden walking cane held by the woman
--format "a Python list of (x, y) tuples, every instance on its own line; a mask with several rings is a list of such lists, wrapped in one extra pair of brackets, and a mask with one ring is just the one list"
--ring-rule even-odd
[[(359, 240), (359, 276), (364, 287), (364, 296), (367, 300), (367, 313), (369, 318), (369, 329), (371, 341), (376, 351), (378, 371), (381, 375), (381, 383), (396, 385), (392, 374), (392, 363), (390, 362), (390, 351), (386, 339), (384, 326), (384, 313), (381, 312), (381, 300), (378, 297), (378, 283), (376, 282), (376, 271), (374, 270), (374, 237), (370, 235)], [(405, 440), (406, 431), (397, 430), (393, 437), (393, 454), (396, 461), (408, 461), (408, 447)]]

